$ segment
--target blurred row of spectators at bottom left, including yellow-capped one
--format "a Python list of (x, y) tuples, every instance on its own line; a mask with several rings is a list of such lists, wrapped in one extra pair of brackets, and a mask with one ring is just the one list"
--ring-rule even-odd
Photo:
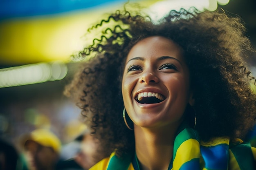
[(88, 129), (67, 144), (47, 128), (22, 134), (18, 142), (0, 139), (0, 170), (88, 170), (101, 159)]

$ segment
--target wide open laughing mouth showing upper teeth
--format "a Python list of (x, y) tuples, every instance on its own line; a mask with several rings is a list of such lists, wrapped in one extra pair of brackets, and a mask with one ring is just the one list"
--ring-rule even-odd
[(160, 93), (142, 92), (138, 93), (135, 99), (140, 104), (154, 104), (162, 102), (165, 99), (165, 97)]

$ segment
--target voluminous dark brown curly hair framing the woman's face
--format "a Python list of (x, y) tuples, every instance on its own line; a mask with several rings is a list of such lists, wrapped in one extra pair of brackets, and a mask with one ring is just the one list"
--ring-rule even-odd
[[(112, 24), (110, 24), (112, 23)], [(190, 70), (198, 130), (202, 140), (227, 136), (243, 139), (254, 125), (256, 95), (250, 85), (255, 78), (245, 59), (252, 52), (240, 18), (222, 10), (200, 12), (172, 10), (153, 22), (150, 17), (126, 9), (109, 15), (92, 28), (110, 24), (99, 39), (77, 56), (89, 58), (66, 88), (76, 97), (82, 114), (90, 121), (106, 156), (134, 150), (134, 134), (124, 124), (121, 78), (128, 52), (139, 40), (163, 36), (182, 48)]]

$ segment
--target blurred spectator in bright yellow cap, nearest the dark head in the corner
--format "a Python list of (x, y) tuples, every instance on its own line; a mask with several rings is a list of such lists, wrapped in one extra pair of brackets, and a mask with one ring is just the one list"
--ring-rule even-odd
[(36, 129), (22, 140), (29, 170), (54, 170), (61, 141), (46, 129)]

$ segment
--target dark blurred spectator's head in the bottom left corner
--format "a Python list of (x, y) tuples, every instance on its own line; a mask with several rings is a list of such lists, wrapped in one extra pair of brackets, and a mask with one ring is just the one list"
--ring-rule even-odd
[(19, 155), (16, 148), (0, 139), (0, 170), (20, 170)]

